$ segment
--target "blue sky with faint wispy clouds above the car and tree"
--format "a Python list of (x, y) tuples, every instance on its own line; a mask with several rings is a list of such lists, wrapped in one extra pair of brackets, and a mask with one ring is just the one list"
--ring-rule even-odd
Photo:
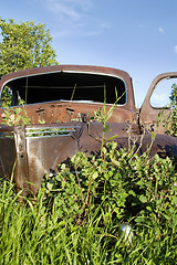
[(177, 71), (177, 0), (1, 0), (0, 17), (45, 24), (60, 64), (128, 72), (137, 107), (156, 75)]

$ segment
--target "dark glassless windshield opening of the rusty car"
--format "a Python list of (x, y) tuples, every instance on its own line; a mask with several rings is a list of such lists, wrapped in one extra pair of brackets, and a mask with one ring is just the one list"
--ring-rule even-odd
[(12, 92), (11, 106), (18, 106), (21, 100), (35, 104), (54, 100), (77, 100), (106, 103), (116, 100), (126, 104), (125, 82), (116, 76), (92, 73), (55, 72), (41, 75), (24, 76), (7, 84)]

